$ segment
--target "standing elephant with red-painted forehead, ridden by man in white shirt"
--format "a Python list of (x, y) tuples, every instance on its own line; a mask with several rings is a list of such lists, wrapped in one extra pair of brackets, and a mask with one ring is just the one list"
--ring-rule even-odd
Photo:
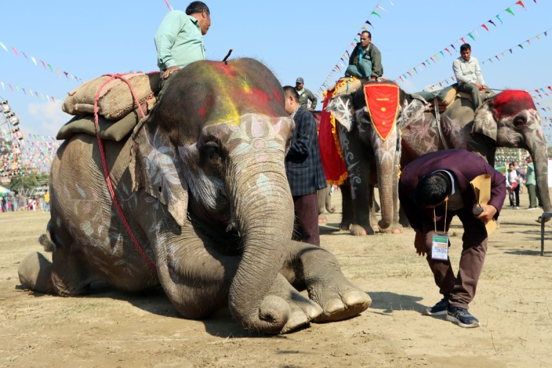
[(533, 157), (542, 209), (552, 211), (548, 192), (546, 139), (531, 95), (505, 90), (487, 99), (477, 110), (469, 99), (456, 99), (440, 116), (424, 113), (402, 132), (401, 166), (424, 153), (462, 148), (495, 163), (497, 147), (524, 148)]

